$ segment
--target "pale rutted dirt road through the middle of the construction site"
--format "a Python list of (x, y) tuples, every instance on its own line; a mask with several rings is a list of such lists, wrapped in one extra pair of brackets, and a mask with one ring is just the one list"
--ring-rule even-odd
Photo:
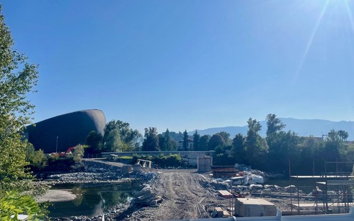
[(159, 207), (146, 207), (128, 220), (181, 220), (208, 218), (205, 205), (228, 205), (228, 199), (217, 196), (212, 188), (203, 187), (203, 176), (196, 170), (158, 170), (152, 188), (164, 201)]

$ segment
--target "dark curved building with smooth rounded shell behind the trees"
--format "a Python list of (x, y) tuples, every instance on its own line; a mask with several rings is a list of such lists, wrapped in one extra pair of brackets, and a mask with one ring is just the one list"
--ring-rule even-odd
[[(44, 153), (66, 152), (69, 147), (85, 144), (91, 131), (103, 135), (106, 117), (101, 110), (84, 110), (51, 117), (26, 127), (26, 137), (35, 149)], [(58, 145), (58, 148), (57, 148)]]

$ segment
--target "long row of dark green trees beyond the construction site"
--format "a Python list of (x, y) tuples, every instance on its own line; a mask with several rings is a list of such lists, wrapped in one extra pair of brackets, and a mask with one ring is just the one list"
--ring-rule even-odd
[[(112, 120), (106, 125), (103, 136), (91, 132), (87, 136), (88, 152), (174, 151), (178, 146), (184, 151), (215, 151), (214, 163), (233, 165), (242, 163), (253, 168), (282, 174), (319, 174), (325, 162), (353, 161), (354, 145), (348, 144), (348, 132), (332, 129), (322, 138), (298, 136), (294, 131), (284, 131), (285, 124), (269, 113), (266, 116), (266, 137), (260, 136), (262, 126), (251, 117), (247, 121), (246, 135), (237, 133), (234, 138), (220, 131), (201, 136), (195, 131), (188, 136), (169, 131), (158, 133), (155, 127), (144, 130), (144, 136), (130, 128), (126, 122)], [(180, 145), (178, 145), (180, 142)], [(192, 143), (192, 145), (190, 145)], [(350, 163), (328, 165), (328, 170), (351, 169)]]

